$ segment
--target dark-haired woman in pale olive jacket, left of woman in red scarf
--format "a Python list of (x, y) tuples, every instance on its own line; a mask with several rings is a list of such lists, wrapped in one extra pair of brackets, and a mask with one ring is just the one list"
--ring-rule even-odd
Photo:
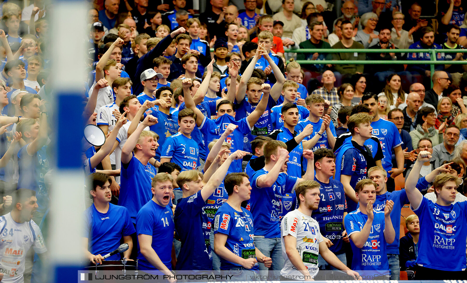
[(417, 148), (418, 141), (421, 138), (430, 138), (432, 141), (432, 146), (439, 145), (443, 142), (443, 130), (446, 124), (442, 124), (442, 127), (439, 127), (439, 130), (435, 128), (436, 124), (436, 114), (435, 109), (431, 107), (424, 107), (418, 110), (417, 113), (417, 126), (415, 130), (410, 131), (410, 137), (412, 138), (413, 148)]

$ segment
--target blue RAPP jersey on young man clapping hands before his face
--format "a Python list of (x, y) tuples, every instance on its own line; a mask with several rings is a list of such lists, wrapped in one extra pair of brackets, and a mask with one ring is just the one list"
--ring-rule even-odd
[[(368, 215), (361, 213), (360, 209), (346, 215), (344, 226), (349, 239), (350, 235), (363, 229), (367, 220)], [(388, 270), (389, 273), (386, 239), (384, 238), (384, 211), (373, 212), (372, 224), (368, 239), (362, 248), (356, 247), (354, 241), (350, 240), (350, 246), (354, 253), (352, 270)]]

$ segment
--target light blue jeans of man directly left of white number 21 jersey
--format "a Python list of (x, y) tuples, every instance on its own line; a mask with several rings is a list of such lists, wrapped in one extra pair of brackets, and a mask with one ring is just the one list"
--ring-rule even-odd
[(281, 270), (284, 267), (284, 258), (282, 256), (281, 238), (259, 238), (253, 239), (255, 247), (259, 249), (262, 254), (272, 259), (272, 266), (267, 268), (264, 264), (258, 262), (260, 275), (268, 276), (268, 270), (274, 270), (275, 276), (281, 276)]

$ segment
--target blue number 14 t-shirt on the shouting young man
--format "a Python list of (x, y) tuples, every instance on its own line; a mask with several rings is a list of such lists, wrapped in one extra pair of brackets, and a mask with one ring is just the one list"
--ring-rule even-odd
[[(172, 269), (172, 241), (174, 238), (175, 224), (174, 216), (170, 206), (160, 206), (152, 199), (144, 204), (136, 216), (137, 235), (152, 236), (151, 247), (156, 252), (163, 264)], [(140, 243), (138, 241), (138, 263), (141, 270), (157, 270), (141, 254)]]

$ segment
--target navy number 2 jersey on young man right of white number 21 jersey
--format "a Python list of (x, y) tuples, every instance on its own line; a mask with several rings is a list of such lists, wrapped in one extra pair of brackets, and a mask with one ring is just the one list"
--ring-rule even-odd
[(342, 227), (344, 212), (347, 212), (347, 202), (344, 193), (344, 186), (340, 181), (329, 179), (329, 183), (317, 181), (321, 186), (319, 192), (321, 200), (317, 210), (314, 210), (311, 217), (319, 223), (321, 235), (330, 239), (333, 245), (329, 250), (334, 254), (343, 254), (344, 241), (342, 240)]

